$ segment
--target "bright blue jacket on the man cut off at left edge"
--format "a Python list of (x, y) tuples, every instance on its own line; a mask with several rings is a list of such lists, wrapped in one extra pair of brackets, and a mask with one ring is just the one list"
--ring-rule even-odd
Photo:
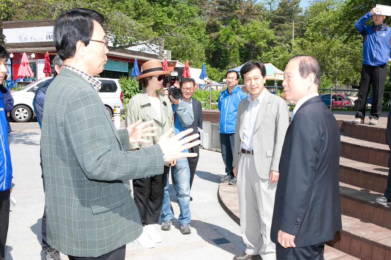
[(3, 93), (0, 92), (0, 191), (11, 188), (12, 164), (8, 144), (7, 115), (5, 114)]

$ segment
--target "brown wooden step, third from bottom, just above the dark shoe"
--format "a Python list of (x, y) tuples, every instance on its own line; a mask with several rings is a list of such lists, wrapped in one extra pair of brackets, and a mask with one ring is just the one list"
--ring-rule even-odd
[(339, 181), (384, 193), (387, 187), (388, 167), (339, 158)]

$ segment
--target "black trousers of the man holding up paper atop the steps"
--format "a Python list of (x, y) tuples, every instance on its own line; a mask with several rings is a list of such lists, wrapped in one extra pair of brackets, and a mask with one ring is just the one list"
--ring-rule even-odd
[(387, 64), (370, 66), (362, 64), (359, 99), (357, 103), (356, 118), (365, 118), (365, 105), (367, 103), (369, 89), (372, 84), (373, 100), (369, 118), (379, 119), (383, 106), (384, 85), (386, 84)]

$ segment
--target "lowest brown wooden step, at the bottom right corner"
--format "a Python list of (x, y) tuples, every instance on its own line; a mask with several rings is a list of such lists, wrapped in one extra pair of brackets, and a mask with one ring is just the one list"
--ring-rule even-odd
[(328, 244), (362, 260), (391, 259), (391, 230), (342, 215), (342, 230)]

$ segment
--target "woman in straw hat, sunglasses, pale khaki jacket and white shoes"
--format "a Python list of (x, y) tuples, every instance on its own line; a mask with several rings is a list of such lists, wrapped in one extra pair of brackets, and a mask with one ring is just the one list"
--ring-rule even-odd
[[(157, 136), (147, 137), (151, 141), (149, 144), (145, 142), (132, 144), (132, 150), (157, 144), (161, 134), (174, 128), (170, 100), (158, 92), (164, 77), (170, 72), (163, 71), (161, 62), (156, 60), (145, 62), (142, 71), (142, 74), (137, 77), (142, 91), (130, 99), (125, 125), (128, 126), (139, 120), (142, 122), (152, 120), (152, 126), (156, 126), (158, 130), (156, 130)], [(161, 175), (133, 180), (135, 203), (143, 224), (143, 233), (133, 242), (144, 248), (153, 248), (155, 243), (162, 241), (160, 235), (156, 233), (154, 224), (158, 223), (169, 169), (169, 165), (166, 164)]]

